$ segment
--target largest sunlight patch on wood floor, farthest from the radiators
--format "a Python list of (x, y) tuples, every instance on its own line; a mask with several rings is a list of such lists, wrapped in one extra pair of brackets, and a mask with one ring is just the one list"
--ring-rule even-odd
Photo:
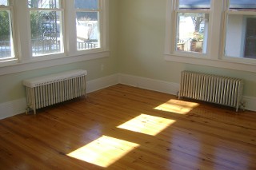
[(126, 140), (102, 136), (90, 144), (70, 152), (67, 156), (106, 168), (134, 148), (137, 148), (138, 145)]

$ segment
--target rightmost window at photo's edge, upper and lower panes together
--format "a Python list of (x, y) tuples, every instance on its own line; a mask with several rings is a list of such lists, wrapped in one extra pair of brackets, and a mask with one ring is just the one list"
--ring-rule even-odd
[(230, 0), (226, 11), (225, 57), (256, 59), (256, 2)]

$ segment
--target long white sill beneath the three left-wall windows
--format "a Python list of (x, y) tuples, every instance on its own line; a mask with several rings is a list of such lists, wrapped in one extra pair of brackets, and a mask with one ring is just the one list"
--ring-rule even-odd
[(102, 57), (109, 57), (109, 51), (98, 51), (95, 53), (86, 53), (82, 55), (69, 55), (66, 57), (58, 57), (54, 59), (30, 60), (22, 61), (13, 65), (0, 67), (0, 76), (10, 73), (19, 73), (22, 71), (30, 71), (33, 69), (43, 69), (56, 65), (66, 65), (74, 62), (94, 60)]

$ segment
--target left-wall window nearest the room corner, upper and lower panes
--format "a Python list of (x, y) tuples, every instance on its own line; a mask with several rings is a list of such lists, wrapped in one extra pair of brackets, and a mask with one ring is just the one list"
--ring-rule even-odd
[(77, 49), (98, 49), (100, 42), (100, 10), (98, 0), (75, 0)]

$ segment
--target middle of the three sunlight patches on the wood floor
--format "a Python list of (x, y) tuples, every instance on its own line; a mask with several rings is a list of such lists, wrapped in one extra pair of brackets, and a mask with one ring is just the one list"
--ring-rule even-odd
[(175, 121), (171, 119), (141, 114), (140, 116), (119, 125), (118, 128), (155, 136), (174, 122)]

